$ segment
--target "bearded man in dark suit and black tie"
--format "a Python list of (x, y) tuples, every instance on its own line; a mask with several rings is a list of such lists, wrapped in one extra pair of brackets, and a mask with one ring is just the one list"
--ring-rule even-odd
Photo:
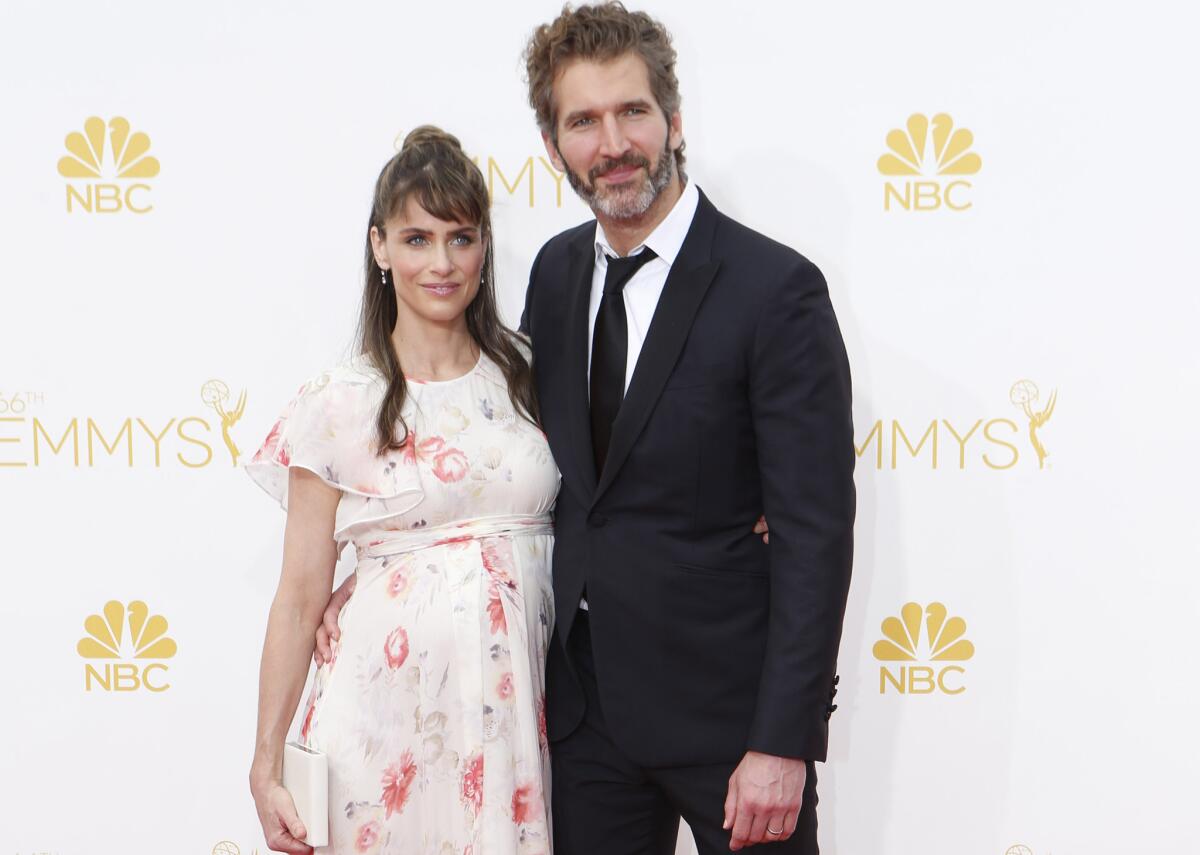
[(702, 855), (816, 853), (850, 371), (817, 268), (686, 180), (674, 61), (616, 2), (564, 8), (526, 52), (546, 150), (596, 217), (541, 249), (522, 318), (563, 473), (554, 851), (668, 855), (682, 817)]

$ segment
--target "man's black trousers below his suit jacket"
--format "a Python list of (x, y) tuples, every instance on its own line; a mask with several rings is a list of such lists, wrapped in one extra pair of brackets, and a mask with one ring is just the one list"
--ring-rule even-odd
[[(583, 682), (583, 723), (551, 746), (554, 855), (673, 855), (679, 819), (691, 829), (700, 855), (727, 855), (721, 827), (730, 776), (742, 758), (708, 766), (644, 769), (608, 736), (596, 693), (587, 612), (571, 627), (568, 652)], [(808, 765), (796, 833), (748, 849), (758, 855), (817, 855), (817, 793)]]

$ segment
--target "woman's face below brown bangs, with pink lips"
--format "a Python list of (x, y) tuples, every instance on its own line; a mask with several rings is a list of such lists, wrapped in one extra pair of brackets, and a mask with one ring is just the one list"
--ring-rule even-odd
[(398, 311), (439, 327), (466, 324), (484, 268), (479, 226), (438, 220), (409, 197), (384, 232), (371, 228), (371, 246), (379, 267), (391, 271)]

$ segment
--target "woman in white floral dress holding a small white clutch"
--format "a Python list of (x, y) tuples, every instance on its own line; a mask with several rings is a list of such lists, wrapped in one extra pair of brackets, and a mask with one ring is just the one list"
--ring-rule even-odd
[(492, 258), (479, 168), (413, 131), (376, 184), (361, 353), (306, 383), (247, 465), (288, 512), (251, 770), (272, 849), (311, 851), (281, 758), (349, 542), (354, 596), (300, 731), (329, 758), (323, 851), (550, 851), (558, 472)]

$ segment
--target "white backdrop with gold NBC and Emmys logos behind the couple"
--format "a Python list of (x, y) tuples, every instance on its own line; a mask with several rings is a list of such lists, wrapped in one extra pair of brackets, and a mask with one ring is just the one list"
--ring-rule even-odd
[[(676, 34), (692, 178), (824, 270), (851, 353), (858, 548), (823, 851), (1193, 851), (1195, 13), (646, 7)], [(516, 322), (536, 249), (587, 216), (520, 74), (556, 12), (0, 12), (0, 853), (265, 851), (246, 773), (283, 516), (202, 387), (224, 383), (227, 411), (245, 390), (228, 435), (248, 458), (348, 352), (372, 183), (421, 122), (491, 173)], [(913, 114), (938, 128), (922, 174), (884, 175)], [(60, 174), (89, 116), (145, 133), (156, 173), (118, 178), (106, 151), (100, 177)], [(947, 121), (978, 169), (937, 174)], [(143, 657), (124, 638), (96, 658), (79, 642), (109, 602), (144, 603), (174, 645), (150, 646), (150, 621)], [(887, 628), (912, 658), (881, 660), (902, 656), (877, 642), (907, 603), (918, 621)], [(964, 621), (936, 659), (932, 604)]]

